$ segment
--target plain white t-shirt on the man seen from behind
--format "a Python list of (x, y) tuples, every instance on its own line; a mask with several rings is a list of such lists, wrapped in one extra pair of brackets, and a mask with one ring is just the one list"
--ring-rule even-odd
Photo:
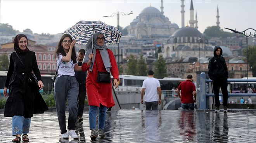
[(145, 102), (158, 101), (157, 87), (160, 87), (160, 82), (154, 77), (143, 81), (142, 88), (146, 89)]

